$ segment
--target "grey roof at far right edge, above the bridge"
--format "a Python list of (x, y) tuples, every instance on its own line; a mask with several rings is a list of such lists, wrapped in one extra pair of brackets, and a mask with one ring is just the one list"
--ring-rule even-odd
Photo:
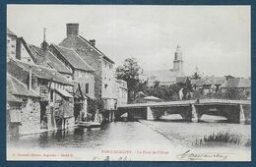
[(229, 79), (222, 87), (251, 87), (251, 80), (249, 79)]

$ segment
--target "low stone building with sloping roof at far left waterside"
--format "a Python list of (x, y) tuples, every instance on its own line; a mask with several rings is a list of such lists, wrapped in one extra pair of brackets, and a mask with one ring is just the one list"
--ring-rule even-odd
[(8, 137), (40, 132), (39, 94), (9, 74), (6, 123)]

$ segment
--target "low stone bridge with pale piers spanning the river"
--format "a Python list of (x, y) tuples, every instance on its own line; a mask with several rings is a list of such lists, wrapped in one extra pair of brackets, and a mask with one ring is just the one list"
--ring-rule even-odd
[(204, 115), (223, 116), (230, 123), (251, 122), (251, 101), (200, 99), (155, 103), (126, 104), (114, 113), (115, 120), (127, 113), (128, 120), (158, 120), (161, 116), (180, 114), (186, 121), (198, 122)]

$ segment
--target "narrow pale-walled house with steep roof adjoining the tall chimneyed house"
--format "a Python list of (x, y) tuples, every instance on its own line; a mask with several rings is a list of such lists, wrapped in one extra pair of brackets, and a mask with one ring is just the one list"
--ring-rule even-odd
[(75, 92), (81, 91), (81, 98), (75, 99), (74, 111), (75, 120), (79, 122), (82, 119), (81, 114), (86, 116), (88, 113), (88, 101), (85, 99), (95, 99), (95, 70), (71, 48), (51, 44), (50, 50), (67, 69), (72, 71)]

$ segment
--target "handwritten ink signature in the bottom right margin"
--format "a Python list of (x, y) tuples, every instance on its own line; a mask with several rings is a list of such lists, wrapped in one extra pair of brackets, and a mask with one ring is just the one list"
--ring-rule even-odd
[(178, 154), (177, 158), (180, 160), (225, 160), (230, 153), (220, 152), (192, 152), (190, 150)]

